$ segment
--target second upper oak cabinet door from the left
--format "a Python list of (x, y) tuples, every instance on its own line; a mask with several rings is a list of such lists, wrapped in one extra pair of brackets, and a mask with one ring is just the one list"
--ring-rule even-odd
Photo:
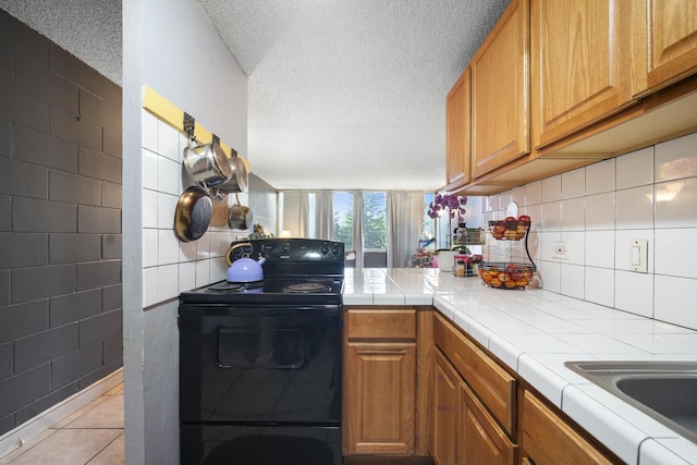
[(528, 0), (513, 0), (472, 60), (473, 176), (529, 152)]

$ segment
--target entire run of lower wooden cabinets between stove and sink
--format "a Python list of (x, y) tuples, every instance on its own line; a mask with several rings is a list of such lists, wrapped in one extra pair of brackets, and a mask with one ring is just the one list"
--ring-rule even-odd
[(430, 454), (436, 465), (620, 463), (455, 325), (418, 308), (346, 309), (344, 455)]

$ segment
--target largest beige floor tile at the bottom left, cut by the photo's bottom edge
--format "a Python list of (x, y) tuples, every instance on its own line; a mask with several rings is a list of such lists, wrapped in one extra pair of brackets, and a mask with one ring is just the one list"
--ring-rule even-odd
[(122, 433), (119, 429), (61, 429), (10, 464), (86, 464)]

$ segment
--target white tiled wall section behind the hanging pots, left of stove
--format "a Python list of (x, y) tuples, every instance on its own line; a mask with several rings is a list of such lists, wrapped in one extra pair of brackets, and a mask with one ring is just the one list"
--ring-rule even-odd
[[(186, 138), (176, 129), (143, 110), (144, 307), (224, 279), (224, 253), (230, 242), (245, 234), (210, 227), (198, 241), (179, 241), (174, 210), (181, 193), (193, 184), (182, 166), (185, 146)], [(247, 194), (241, 194), (240, 200), (247, 201)]]

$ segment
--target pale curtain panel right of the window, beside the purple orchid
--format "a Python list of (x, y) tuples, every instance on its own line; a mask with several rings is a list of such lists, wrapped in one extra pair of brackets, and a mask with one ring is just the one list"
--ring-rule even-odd
[(388, 267), (406, 268), (424, 221), (423, 192), (388, 192)]

